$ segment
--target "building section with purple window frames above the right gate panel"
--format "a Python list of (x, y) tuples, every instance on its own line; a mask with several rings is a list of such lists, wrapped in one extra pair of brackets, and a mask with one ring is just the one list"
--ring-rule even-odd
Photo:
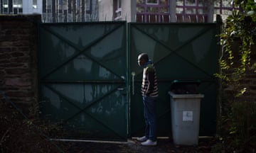
[(137, 22), (210, 23), (217, 14), (228, 16), (230, 0), (137, 0)]

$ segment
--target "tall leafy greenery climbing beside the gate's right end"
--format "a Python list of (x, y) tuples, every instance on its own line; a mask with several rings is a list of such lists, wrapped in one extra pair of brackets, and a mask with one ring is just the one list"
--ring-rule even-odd
[[(237, 5), (248, 11), (250, 0), (236, 0)], [(251, 7), (252, 8), (252, 7)], [(255, 74), (255, 64), (251, 59), (252, 45), (255, 42), (255, 14), (248, 15), (233, 11), (229, 16), (220, 45), (223, 55), (219, 60), (223, 87), (218, 119), (219, 143), (214, 152), (256, 152), (256, 103), (248, 100), (250, 96), (250, 74)]]

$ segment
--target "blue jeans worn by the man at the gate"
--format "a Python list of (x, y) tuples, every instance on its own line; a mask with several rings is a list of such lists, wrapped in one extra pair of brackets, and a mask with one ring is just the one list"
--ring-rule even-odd
[(144, 119), (146, 123), (145, 136), (156, 141), (156, 98), (143, 96)]

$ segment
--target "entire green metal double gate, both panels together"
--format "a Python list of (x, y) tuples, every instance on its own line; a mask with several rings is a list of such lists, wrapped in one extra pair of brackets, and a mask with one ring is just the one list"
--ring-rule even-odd
[(214, 135), (216, 29), (215, 23), (42, 23), (41, 115), (68, 130), (63, 138), (125, 141), (143, 135), (137, 55), (146, 52), (159, 80), (158, 136), (171, 135), (168, 91), (174, 79), (201, 80), (200, 135)]

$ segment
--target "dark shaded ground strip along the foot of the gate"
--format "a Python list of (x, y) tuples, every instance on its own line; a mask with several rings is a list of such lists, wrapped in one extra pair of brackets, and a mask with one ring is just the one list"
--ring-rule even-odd
[(129, 140), (124, 143), (110, 142), (72, 142), (73, 147), (69, 149), (70, 153), (160, 153), (160, 152), (211, 152), (214, 145), (213, 139), (201, 139), (196, 146), (178, 146), (171, 140), (158, 140), (158, 144), (153, 147), (144, 147), (136, 140)]

